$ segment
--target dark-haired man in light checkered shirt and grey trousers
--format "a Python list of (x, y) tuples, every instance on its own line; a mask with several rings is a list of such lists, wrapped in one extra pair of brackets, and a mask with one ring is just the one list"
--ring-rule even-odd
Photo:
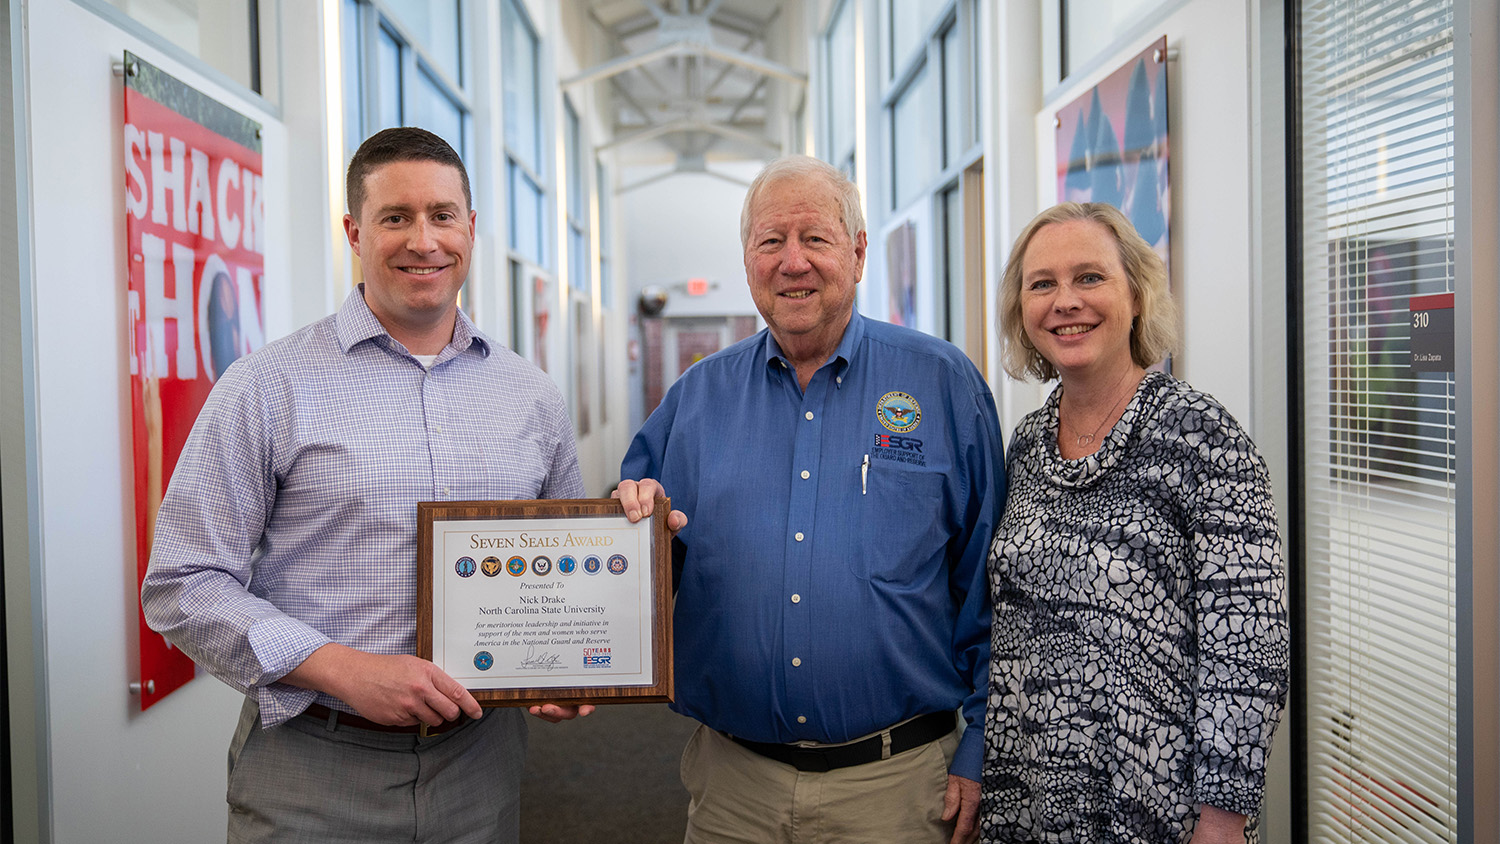
[(524, 717), (414, 655), (416, 504), (580, 498), (573, 424), (552, 381), (458, 309), (474, 211), (448, 144), (370, 136), (348, 202), (363, 283), (219, 378), (141, 601), (246, 696), (230, 841), (516, 841)]

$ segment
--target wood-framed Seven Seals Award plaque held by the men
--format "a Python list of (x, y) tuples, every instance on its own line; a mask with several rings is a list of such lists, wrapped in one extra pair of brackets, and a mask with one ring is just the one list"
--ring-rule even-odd
[(483, 706), (672, 700), (672, 502), (417, 505), (417, 655)]

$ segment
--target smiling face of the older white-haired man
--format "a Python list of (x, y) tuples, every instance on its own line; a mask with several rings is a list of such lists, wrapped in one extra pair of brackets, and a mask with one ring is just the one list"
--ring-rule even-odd
[(746, 277), (756, 309), (794, 360), (826, 357), (854, 313), (864, 232), (850, 238), (822, 178), (766, 184), (750, 213)]

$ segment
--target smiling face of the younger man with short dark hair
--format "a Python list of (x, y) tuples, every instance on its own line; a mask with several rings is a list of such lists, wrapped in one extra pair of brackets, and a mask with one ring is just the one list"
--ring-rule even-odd
[(459, 171), (432, 160), (381, 165), (364, 177), (360, 219), (345, 216), (344, 229), (381, 325), (414, 354), (442, 351), (474, 252)]

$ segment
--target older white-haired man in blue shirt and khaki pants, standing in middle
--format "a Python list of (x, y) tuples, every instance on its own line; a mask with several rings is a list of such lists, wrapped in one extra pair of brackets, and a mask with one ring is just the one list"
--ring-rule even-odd
[[(972, 841), (994, 400), (952, 345), (855, 313), (864, 219), (837, 169), (768, 165), (741, 240), (770, 328), (686, 372), (621, 468), (688, 514), (687, 841)], [(650, 492), (621, 484), (627, 510)]]

